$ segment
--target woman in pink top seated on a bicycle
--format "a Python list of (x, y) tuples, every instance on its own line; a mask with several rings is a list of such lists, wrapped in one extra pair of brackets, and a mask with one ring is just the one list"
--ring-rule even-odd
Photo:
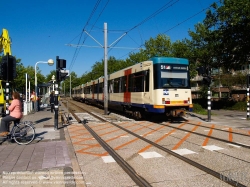
[(9, 133), (10, 122), (21, 119), (23, 116), (22, 103), (20, 101), (19, 93), (13, 92), (12, 98), (13, 100), (11, 102), (11, 105), (8, 107), (10, 115), (3, 117), (1, 120), (0, 136), (7, 136)]

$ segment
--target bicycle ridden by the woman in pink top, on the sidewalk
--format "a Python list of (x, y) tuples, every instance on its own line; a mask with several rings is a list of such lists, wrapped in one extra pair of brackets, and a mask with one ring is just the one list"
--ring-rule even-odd
[(27, 145), (35, 138), (35, 127), (31, 121), (15, 120), (10, 133), (4, 138), (10, 141), (14, 139), (19, 145)]

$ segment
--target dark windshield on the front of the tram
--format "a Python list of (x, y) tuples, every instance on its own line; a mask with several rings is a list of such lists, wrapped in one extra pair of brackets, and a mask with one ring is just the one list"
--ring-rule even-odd
[(162, 88), (190, 88), (188, 66), (154, 66), (154, 89)]

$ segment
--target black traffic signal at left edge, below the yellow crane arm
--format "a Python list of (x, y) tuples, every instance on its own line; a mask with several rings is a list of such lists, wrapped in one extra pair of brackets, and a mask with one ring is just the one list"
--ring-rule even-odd
[(16, 58), (11, 55), (2, 57), (1, 79), (13, 81), (16, 78)]

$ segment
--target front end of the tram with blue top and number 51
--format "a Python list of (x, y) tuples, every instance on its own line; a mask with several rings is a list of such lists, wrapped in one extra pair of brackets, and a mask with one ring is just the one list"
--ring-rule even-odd
[(188, 60), (155, 57), (152, 61), (155, 111), (173, 117), (192, 111)]

